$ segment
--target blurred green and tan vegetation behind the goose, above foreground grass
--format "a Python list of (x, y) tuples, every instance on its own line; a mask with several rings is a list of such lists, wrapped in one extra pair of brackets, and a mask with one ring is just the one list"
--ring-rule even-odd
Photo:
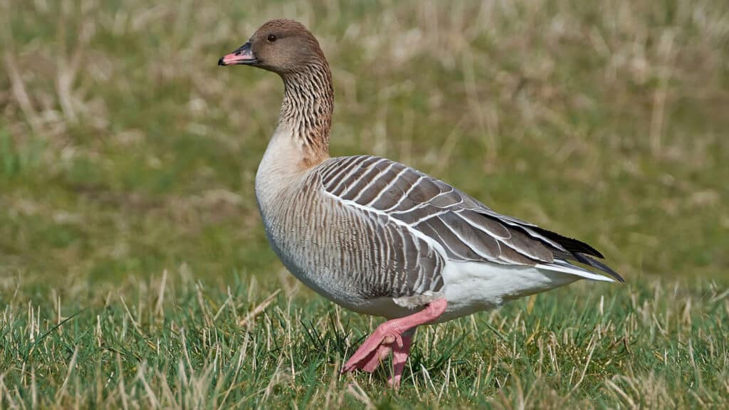
[(727, 276), (725, 1), (2, 7), (2, 278), (280, 271), (253, 178), (281, 81), (216, 66), (280, 16), (332, 66), (332, 155), (408, 163), (594, 244), (628, 281)]

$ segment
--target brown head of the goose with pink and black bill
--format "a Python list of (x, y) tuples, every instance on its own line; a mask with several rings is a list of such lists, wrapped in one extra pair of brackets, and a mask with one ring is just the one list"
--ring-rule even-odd
[(319, 42), (295, 20), (270, 20), (246, 44), (218, 61), (219, 66), (254, 66), (285, 77), (311, 63), (325, 61)]

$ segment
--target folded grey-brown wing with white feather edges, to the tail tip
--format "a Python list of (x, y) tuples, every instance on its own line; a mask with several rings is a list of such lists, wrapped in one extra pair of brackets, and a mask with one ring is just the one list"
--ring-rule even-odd
[(592, 258), (602, 255), (590, 245), (494, 212), (451, 185), (401, 163), (362, 155), (332, 158), (323, 165), (318, 171), (325, 193), (437, 244), (448, 260), (534, 266), (623, 282), (615, 271)]

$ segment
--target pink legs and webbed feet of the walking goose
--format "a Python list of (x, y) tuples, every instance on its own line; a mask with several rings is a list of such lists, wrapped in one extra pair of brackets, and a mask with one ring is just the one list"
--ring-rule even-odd
[(402, 371), (405, 369), (405, 362), (410, 354), (410, 344), (412, 336), (407, 332), (419, 325), (432, 322), (440, 317), (448, 303), (443, 299), (432, 301), (420, 312), (411, 314), (410, 316), (401, 317), (399, 319), (388, 320), (364, 341), (362, 346), (354, 352), (354, 355), (347, 360), (342, 368), (342, 373), (361, 369), (372, 373), (380, 362), (393, 352), (393, 375), (389, 379), (389, 384), (397, 388), (402, 378)]

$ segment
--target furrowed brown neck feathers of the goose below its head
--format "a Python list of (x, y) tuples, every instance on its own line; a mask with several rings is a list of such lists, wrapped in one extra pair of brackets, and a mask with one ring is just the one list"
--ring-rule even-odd
[(278, 128), (286, 129), (302, 149), (300, 166), (310, 168), (329, 158), (329, 133), (334, 109), (332, 74), (324, 56), (281, 73), (284, 102)]

